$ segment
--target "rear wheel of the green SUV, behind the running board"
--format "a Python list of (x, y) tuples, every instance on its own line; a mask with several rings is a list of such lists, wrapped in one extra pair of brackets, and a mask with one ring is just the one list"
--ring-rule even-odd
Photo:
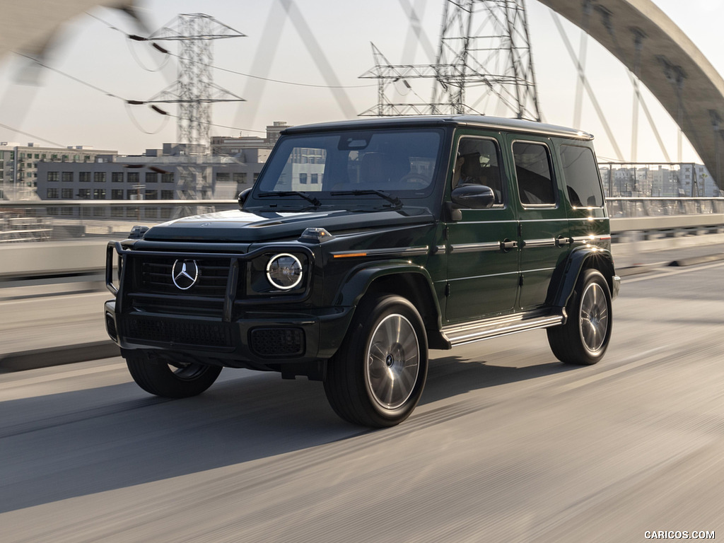
[(611, 338), (611, 293), (597, 269), (586, 269), (566, 306), (568, 321), (547, 329), (548, 343), (563, 363), (590, 366), (603, 358)]

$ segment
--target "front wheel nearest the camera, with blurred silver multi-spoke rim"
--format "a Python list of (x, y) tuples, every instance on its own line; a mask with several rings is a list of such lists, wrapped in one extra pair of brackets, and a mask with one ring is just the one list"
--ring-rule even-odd
[(405, 298), (364, 299), (327, 364), (324, 392), (334, 411), (353, 424), (383, 428), (410, 416), (427, 379), (427, 336)]

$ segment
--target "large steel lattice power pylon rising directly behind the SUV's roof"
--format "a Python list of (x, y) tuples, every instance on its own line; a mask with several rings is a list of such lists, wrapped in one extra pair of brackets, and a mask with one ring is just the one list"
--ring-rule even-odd
[[(372, 45), (378, 104), (361, 115), (496, 114), (540, 120), (525, 0), (446, 0), (434, 64), (390, 64)], [(413, 79), (432, 79), (424, 101)], [(400, 83), (419, 101), (388, 98)]]

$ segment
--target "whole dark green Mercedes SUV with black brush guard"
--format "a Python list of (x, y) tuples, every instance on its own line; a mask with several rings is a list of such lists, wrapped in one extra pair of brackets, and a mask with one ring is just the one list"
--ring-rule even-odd
[(239, 203), (109, 244), (108, 333), (152, 394), (271, 370), (392, 426), (430, 348), (545, 328), (560, 361), (605, 353), (620, 281), (585, 132), (474, 116), (288, 128)]

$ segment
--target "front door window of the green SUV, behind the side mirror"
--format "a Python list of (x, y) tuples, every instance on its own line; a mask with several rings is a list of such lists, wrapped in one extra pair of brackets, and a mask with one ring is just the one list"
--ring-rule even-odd
[(503, 201), (500, 153), (495, 140), (460, 138), (452, 188), (458, 185), (485, 185), (492, 189), (495, 203)]

